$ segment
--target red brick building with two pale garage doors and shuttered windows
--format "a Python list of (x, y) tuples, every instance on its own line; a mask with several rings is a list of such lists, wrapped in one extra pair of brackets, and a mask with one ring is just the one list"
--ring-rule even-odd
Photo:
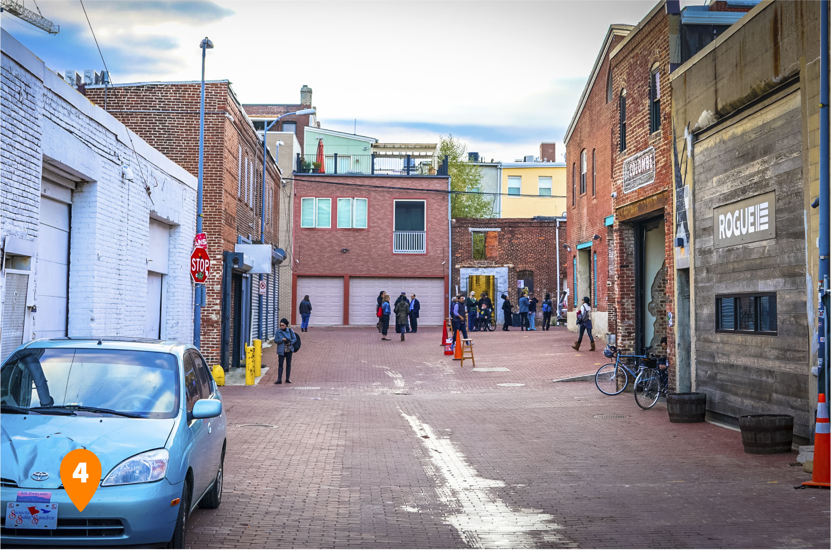
[(419, 323), (448, 312), (448, 177), (295, 174), (292, 321), (310, 295), (311, 325), (377, 322), (384, 289), (416, 293)]

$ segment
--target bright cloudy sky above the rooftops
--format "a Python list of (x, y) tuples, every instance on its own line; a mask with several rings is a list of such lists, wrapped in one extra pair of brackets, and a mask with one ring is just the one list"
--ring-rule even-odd
[[(103, 68), (81, 2), (24, 3), (61, 32), (48, 35), (7, 13), (2, 27), (48, 67)], [(83, 2), (113, 82), (199, 80), (207, 36), (215, 48), (206, 78), (229, 79), (244, 103), (297, 103), (309, 85), (324, 127), (384, 142), (452, 133), (468, 151), (501, 161), (562, 141), (607, 27), (635, 24), (654, 5)]]

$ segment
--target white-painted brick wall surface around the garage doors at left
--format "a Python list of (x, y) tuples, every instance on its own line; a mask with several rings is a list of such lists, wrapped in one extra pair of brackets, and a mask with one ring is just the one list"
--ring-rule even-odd
[[(72, 193), (68, 334), (144, 334), (152, 217), (171, 225), (162, 338), (192, 342), (196, 178), (135, 135), (131, 145), (121, 123), (48, 69), (38, 76), (8, 37), (3, 32), (2, 237), (37, 240), (42, 159), (70, 168), (85, 182)], [(121, 176), (122, 162), (134, 181)], [(37, 304), (37, 275), (35, 283)]]

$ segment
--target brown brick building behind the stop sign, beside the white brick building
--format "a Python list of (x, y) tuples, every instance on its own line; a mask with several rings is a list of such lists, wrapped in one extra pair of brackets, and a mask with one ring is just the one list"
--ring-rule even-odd
[[(103, 86), (87, 87), (86, 94), (104, 106)], [(111, 85), (106, 110), (196, 175), (200, 82)], [(249, 245), (260, 243), (260, 210), (264, 205), (263, 144), (228, 81), (206, 82), (205, 137), (203, 230), (208, 235), (212, 270), (206, 281), (207, 304), (202, 309), (201, 351), (210, 364), (227, 369), (244, 359), (246, 343), (273, 336), (279, 319), (279, 283), (273, 276), (283, 259), (283, 251), (275, 250), (280, 173), (269, 152), (265, 176), (265, 245), (269, 247), (252, 249)], [(261, 274), (253, 273), (249, 258), (265, 273), (266, 294), (258, 294)]]

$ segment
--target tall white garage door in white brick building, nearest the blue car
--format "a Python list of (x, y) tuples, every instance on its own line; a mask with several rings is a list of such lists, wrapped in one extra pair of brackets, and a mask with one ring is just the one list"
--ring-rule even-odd
[(67, 336), (69, 204), (41, 196), (35, 338)]

